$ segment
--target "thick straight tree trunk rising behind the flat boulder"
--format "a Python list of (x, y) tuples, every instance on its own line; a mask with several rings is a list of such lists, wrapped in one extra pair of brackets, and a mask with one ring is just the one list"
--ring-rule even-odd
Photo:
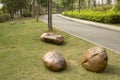
[(48, 0), (48, 28), (52, 31), (52, 0)]

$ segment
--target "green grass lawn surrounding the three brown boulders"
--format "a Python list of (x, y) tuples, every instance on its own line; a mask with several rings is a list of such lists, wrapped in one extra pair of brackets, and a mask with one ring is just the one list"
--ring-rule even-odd
[[(105, 71), (94, 73), (81, 66), (81, 56), (94, 46), (87, 41), (54, 30), (65, 37), (63, 45), (40, 40), (47, 25), (33, 18), (0, 23), (0, 80), (120, 80), (120, 54), (107, 50), (109, 63)], [(67, 60), (67, 69), (52, 72), (43, 66), (42, 56), (50, 50), (60, 50)]]

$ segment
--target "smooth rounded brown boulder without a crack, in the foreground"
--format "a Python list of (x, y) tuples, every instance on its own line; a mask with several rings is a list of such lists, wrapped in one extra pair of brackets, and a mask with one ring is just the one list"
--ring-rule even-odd
[(46, 53), (42, 61), (48, 69), (53, 71), (60, 71), (66, 68), (66, 61), (59, 51), (50, 51)]

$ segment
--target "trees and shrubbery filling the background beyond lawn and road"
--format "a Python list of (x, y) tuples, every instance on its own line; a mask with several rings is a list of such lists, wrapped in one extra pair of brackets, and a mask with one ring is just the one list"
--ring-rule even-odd
[[(0, 22), (48, 13), (48, 0), (1, 0)], [(119, 0), (52, 0), (52, 12), (102, 23), (120, 23)], [(68, 11), (68, 12), (66, 12)], [(80, 12), (80, 13), (79, 13)], [(1, 13), (1, 12), (0, 12)], [(8, 15), (9, 14), (9, 15)]]

